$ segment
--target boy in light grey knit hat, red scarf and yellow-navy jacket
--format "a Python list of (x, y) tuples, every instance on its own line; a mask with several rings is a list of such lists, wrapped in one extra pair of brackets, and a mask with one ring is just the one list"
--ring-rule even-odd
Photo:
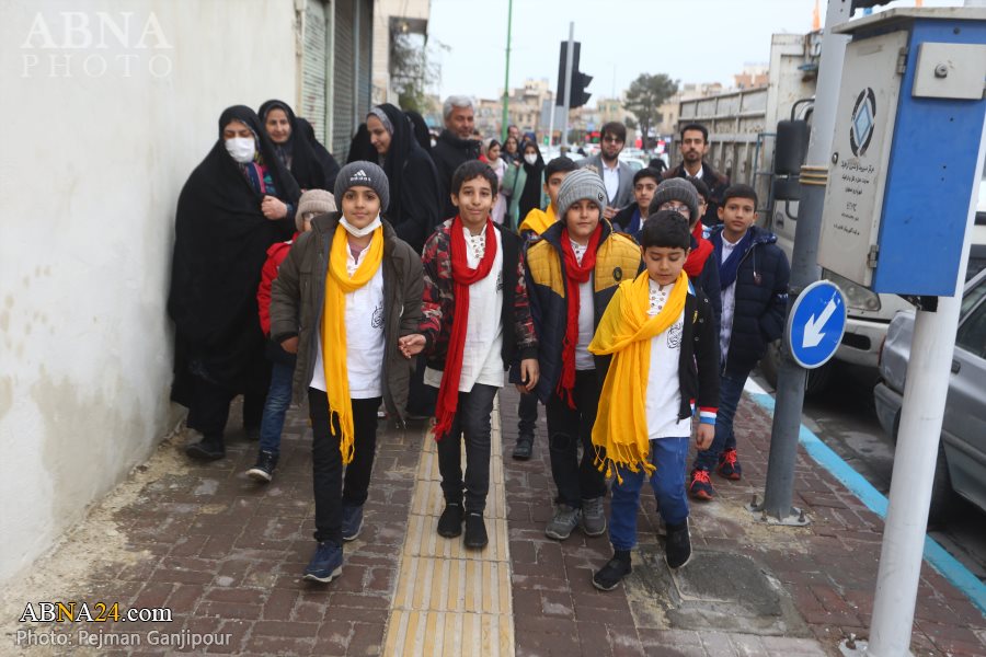
[[(582, 526), (606, 531), (606, 480), (594, 464), (593, 423), (608, 359), (587, 350), (622, 279), (641, 270), (640, 249), (603, 219), (606, 187), (598, 174), (570, 173), (558, 193), (559, 220), (527, 251), (531, 314), (539, 339), (537, 394), (547, 407), (551, 474), (558, 487), (544, 533), (564, 540)], [(578, 447), (582, 446), (582, 461)]]

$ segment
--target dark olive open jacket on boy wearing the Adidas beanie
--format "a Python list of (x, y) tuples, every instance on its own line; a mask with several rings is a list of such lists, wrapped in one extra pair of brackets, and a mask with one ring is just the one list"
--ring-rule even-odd
[[(306, 399), (314, 371), (325, 301), (329, 253), (339, 226), (340, 212), (312, 219), (311, 231), (291, 246), (271, 290), (271, 336), (278, 344), (297, 335), (298, 364), (293, 396)], [(424, 276), (421, 258), (397, 237), (383, 220), (383, 371), (380, 372), (383, 403), (391, 416), (404, 419), (413, 360), (398, 349), (398, 338), (417, 332)]]

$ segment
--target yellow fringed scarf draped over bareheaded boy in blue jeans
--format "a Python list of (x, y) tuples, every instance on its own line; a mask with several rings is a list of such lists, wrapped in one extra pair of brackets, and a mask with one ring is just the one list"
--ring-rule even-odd
[[(683, 270), (664, 309), (649, 316), (650, 278), (643, 272), (634, 280), (620, 284), (599, 320), (588, 350), (596, 356), (612, 354), (593, 426), (596, 465), (599, 470), (605, 465), (606, 476), (612, 473), (612, 465), (623, 465), (631, 472), (643, 468), (647, 474), (654, 471), (645, 404), (651, 338), (667, 331), (681, 316), (687, 293), (688, 275)], [(628, 401), (629, 413), (624, 406)], [(617, 477), (622, 482), (619, 470)]]

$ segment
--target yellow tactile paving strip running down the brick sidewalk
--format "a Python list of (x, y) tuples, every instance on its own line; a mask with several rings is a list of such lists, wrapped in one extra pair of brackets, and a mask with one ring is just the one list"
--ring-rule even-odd
[(428, 434), (424, 437), (397, 592), (387, 622), (385, 655), (514, 655), (498, 401), (493, 407), (492, 428), (490, 495), (484, 514), (490, 544), (482, 551), (466, 550), (461, 537), (444, 539), (435, 531), (445, 502), (435, 440)]

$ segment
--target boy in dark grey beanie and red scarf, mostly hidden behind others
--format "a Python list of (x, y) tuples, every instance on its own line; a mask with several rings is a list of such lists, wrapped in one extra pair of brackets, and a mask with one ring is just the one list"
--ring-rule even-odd
[[(701, 181), (698, 181), (702, 184)], [(708, 189), (708, 187), (707, 187)], [(704, 215), (704, 201), (697, 187), (685, 178), (668, 178), (657, 185), (651, 199), (650, 215), (661, 210), (673, 210), (688, 219), (691, 231), (691, 250), (685, 261), (685, 273), (700, 287), (712, 304), (714, 325), (719, 330), (722, 314), (722, 298), (719, 293), (719, 262), (712, 255), (712, 242), (703, 237), (706, 224), (700, 221)]]

